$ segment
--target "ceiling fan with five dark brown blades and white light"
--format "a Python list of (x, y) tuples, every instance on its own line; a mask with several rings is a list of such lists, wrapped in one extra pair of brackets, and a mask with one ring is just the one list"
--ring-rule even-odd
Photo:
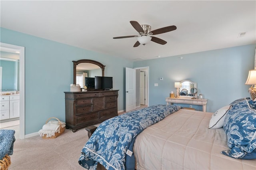
[(166, 41), (164, 41), (160, 38), (154, 37), (152, 35), (162, 34), (162, 33), (170, 32), (170, 31), (173, 31), (173, 30), (177, 29), (176, 26), (167, 26), (167, 27), (163, 27), (163, 28), (159, 28), (159, 29), (151, 31), (151, 26), (150, 25), (146, 25), (146, 24), (140, 25), (137, 21), (130, 21), (130, 23), (132, 24), (133, 28), (140, 35), (139, 36), (114, 37), (114, 39), (138, 37), (137, 38), (138, 41), (133, 45), (133, 47), (138, 47), (140, 44), (145, 45), (150, 40), (152, 42), (164, 45), (164, 44), (167, 43)]

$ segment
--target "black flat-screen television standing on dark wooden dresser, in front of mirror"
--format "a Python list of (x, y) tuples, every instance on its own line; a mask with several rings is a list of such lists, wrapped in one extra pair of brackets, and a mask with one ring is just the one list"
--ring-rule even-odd
[(95, 76), (95, 89), (109, 90), (113, 88), (113, 77)]

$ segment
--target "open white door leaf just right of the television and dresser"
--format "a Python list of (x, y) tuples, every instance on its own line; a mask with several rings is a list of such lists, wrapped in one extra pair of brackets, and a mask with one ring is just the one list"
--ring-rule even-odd
[(136, 109), (136, 69), (125, 68), (125, 111)]

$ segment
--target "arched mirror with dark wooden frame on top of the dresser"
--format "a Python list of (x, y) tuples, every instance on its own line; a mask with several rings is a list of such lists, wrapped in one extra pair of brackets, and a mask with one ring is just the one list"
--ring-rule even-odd
[[(73, 84), (79, 84), (82, 88), (84, 85), (87, 85), (87, 90), (94, 90), (94, 87), (90, 86), (90, 77), (94, 78), (95, 76), (104, 76), (105, 65), (98, 61), (91, 59), (80, 59), (73, 62)], [(88, 77), (86, 80), (85, 77)], [(92, 85), (94, 86), (94, 84)]]

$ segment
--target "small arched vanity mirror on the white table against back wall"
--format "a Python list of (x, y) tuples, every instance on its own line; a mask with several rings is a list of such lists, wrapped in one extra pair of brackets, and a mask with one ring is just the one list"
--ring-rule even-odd
[[(190, 81), (190, 80), (182, 80), (180, 81), (180, 96), (181, 97), (191, 97), (191, 96), (196, 96), (197, 94), (192, 94), (191, 92), (191, 89), (193, 89), (193, 93), (194, 93), (194, 90), (197, 88), (197, 83), (193, 82), (193, 81)], [(196, 89), (196, 92), (197, 92), (197, 89)]]

